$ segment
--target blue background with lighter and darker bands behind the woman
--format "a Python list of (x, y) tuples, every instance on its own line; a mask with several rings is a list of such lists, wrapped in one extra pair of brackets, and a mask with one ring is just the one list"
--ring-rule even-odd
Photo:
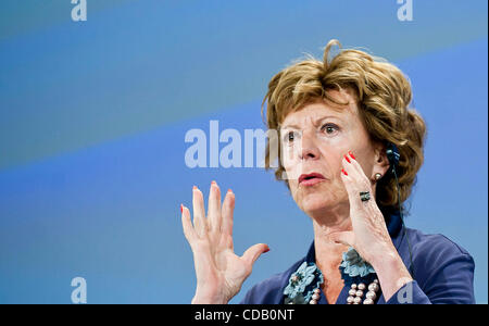
[[(331, 38), (394, 62), (428, 125), (410, 227), (476, 262), (487, 303), (487, 1), (0, 2), (0, 303), (185, 303), (193, 261), (179, 204), (233, 188), (235, 247), (266, 242), (255, 283), (305, 254), (312, 224), (261, 168), (186, 167), (185, 133), (264, 128), (269, 78)], [(223, 146), (222, 146), (223, 147)]]

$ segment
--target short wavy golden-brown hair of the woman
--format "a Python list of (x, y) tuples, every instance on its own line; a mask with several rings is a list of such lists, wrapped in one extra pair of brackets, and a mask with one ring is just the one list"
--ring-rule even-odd
[[(340, 51), (329, 61), (329, 52), (335, 45)], [(360, 118), (371, 139), (386, 147), (389, 142), (394, 143), (399, 149), (399, 195), (396, 179), (392, 174), (388, 174), (378, 180), (375, 196), (384, 213), (394, 212), (398, 210), (399, 196), (401, 203), (410, 197), (416, 183), (416, 173), (423, 164), (425, 122), (414, 109), (409, 108), (412, 100), (411, 84), (397, 66), (361, 50), (343, 50), (336, 39), (327, 43), (323, 61), (308, 55), (280, 71), (268, 83), (268, 91), (262, 102), (262, 116), (266, 103), (267, 128), (275, 129), (278, 138), (267, 139), (265, 168), (272, 168), (272, 163), (280, 158), (280, 145), (273, 142), (280, 139), (280, 124), (285, 117), (318, 99), (348, 105), (327, 92), (341, 89), (353, 90)], [(277, 150), (271, 151), (273, 146), (278, 148), (278, 153)], [(276, 156), (273, 156), (274, 152)], [(281, 180), (284, 172), (278, 160), (275, 177)], [(285, 183), (289, 187), (288, 181)]]

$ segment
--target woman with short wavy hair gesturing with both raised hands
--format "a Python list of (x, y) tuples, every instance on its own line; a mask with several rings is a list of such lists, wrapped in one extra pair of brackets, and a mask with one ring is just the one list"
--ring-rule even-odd
[[(255, 285), (242, 303), (474, 303), (474, 260), (441, 235), (405, 228), (403, 203), (423, 164), (426, 128), (394, 65), (359, 50), (308, 58), (268, 84), (265, 162), (313, 221), (306, 255)], [(263, 112), (263, 108), (262, 108)], [(277, 155), (273, 154), (278, 147)], [(192, 303), (227, 303), (268, 247), (233, 250), (231, 190), (215, 181), (205, 214), (193, 187), (193, 225), (181, 205), (195, 259)]]

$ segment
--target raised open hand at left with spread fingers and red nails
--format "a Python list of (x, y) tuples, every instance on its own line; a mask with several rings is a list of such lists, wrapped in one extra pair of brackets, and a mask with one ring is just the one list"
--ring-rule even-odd
[(192, 303), (227, 303), (241, 289), (256, 259), (269, 249), (258, 243), (243, 255), (236, 255), (233, 246), (235, 195), (229, 189), (221, 205), (221, 190), (212, 181), (205, 217), (202, 192), (197, 187), (192, 192), (193, 225), (190, 211), (181, 205), (181, 224), (193, 252), (197, 275)]

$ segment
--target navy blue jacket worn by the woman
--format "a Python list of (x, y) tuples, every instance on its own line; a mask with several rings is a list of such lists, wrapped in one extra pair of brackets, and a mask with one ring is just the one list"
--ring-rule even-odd
[[(410, 251), (400, 216), (390, 215), (387, 227), (399, 255), (411, 271)], [(399, 289), (387, 302), (381, 294), (376, 303), (475, 303), (475, 264), (471, 254), (442, 235), (425, 235), (411, 228), (405, 228), (405, 234), (412, 248), (415, 278)], [(284, 273), (273, 275), (253, 286), (240, 303), (283, 304), (284, 289), (292, 273), (304, 261), (315, 263), (314, 241), (304, 258)], [(344, 286), (336, 301), (338, 304), (347, 303), (348, 291), (349, 288)], [(323, 291), (318, 303), (328, 303)]]

